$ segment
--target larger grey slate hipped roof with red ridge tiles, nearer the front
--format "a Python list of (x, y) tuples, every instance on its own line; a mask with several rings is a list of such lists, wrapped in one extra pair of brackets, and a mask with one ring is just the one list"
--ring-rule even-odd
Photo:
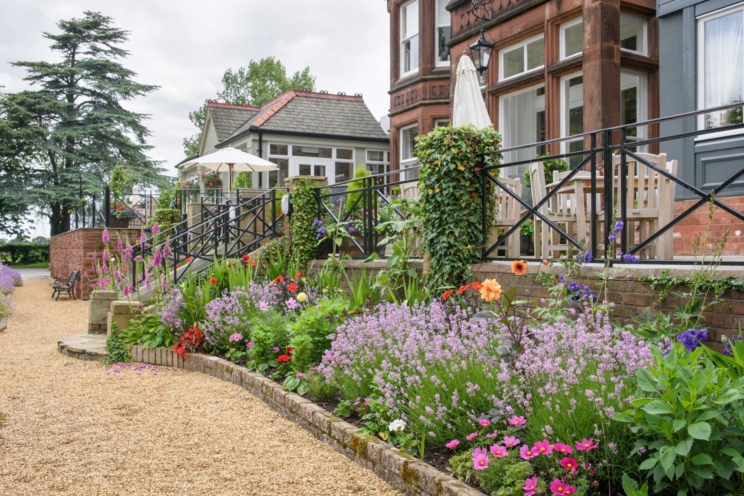
[(287, 91), (263, 105), (222, 142), (259, 131), (321, 134), (359, 140), (388, 140), (361, 95), (333, 95), (314, 91)]

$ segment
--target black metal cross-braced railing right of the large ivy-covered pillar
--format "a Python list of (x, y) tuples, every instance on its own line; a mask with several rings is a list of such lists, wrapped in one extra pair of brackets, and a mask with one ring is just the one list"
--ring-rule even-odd
[[(721, 105), (719, 107), (714, 108), (707, 108), (705, 110), (701, 111), (692, 111), (692, 112), (686, 112), (684, 114), (677, 114), (670, 117), (661, 117), (658, 119), (652, 119), (652, 120), (646, 120), (641, 123), (630, 123), (626, 125), (619, 125), (614, 128), (606, 128), (606, 129), (600, 129), (597, 131), (589, 131), (582, 134), (574, 134), (570, 137), (563, 137), (563, 138), (557, 138), (554, 140), (547, 140), (542, 141), (539, 143), (530, 143), (528, 145), (522, 145), (522, 146), (513, 146), (506, 149), (500, 149), (493, 151), (493, 154), (504, 154), (508, 153), (510, 151), (519, 151), (519, 150), (525, 150), (525, 149), (538, 149), (538, 147), (545, 146), (547, 148), (548, 145), (554, 144), (554, 143), (563, 143), (568, 140), (574, 141), (577, 140), (577, 138), (583, 139), (583, 143), (589, 144), (588, 148), (583, 149), (581, 151), (568, 151), (561, 154), (551, 154), (548, 156), (542, 156), (542, 157), (536, 157), (529, 160), (515, 160), (512, 162), (507, 163), (498, 163), (495, 166), (489, 166), (484, 167), (484, 172), (487, 172), (485, 174), (482, 174), (482, 189), (481, 189), (481, 198), (483, 199), (483, 218), (482, 218), (482, 233), (483, 233), (483, 247), (481, 252), (481, 258), (483, 260), (494, 260), (495, 257), (492, 256), (493, 252), (498, 249), (501, 245), (503, 245), (507, 238), (511, 235), (515, 235), (516, 232), (520, 229), (522, 224), (529, 221), (530, 219), (535, 219), (536, 221), (540, 221), (542, 223), (545, 223), (547, 226), (549, 226), (551, 229), (554, 229), (557, 233), (559, 233), (560, 238), (565, 241), (565, 244), (571, 244), (577, 252), (589, 250), (591, 252), (592, 257), (594, 260), (599, 262), (608, 261), (610, 264), (613, 263), (623, 263), (623, 258), (620, 258), (617, 253), (611, 252), (611, 246), (612, 243), (610, 243), (612, 235), (612, 228), (611, 225), (613, 221), (622, 221), (623, 226), (626, 226), (626, 229), (628, 229), (628, 222), (629, 219), (627, 217), (628, 208), (626, 207), (628, 203), (628, 178), (629, 174), (634, 171), (629, 171), (628, 169), (628, 162), (629, 158), (632, 162), (635, 162), (637, 164), (642, 164), (643, 166), (650, 169), (652, 172), (650, 174), (655, 173), (658, 174), (658, 178), (666, 177), (668, 178), (674, 185), (679, 185), (684, 189), (687, 189), (688, 191), (692, 192), (694, 195), (696, 195), (699, 199), (693, 203), (691, 206), (689, 206), (687, 209), (684, 210), (684, 212), (680, 213), (673, 219), (671, 219), (669, 222), (665, 223), (664, 225), (659, 225), (655, 229), (655, 232), (650, 234), (647, 238), (639, 239), (638, 244), (635, 244), (633, 247), (629, 247), (628, 245), (628, 236), (623, 233), (623, 235), (618, 236), (618, 239), (620, 240), (620, 251), (623, 254), (627, 255), (636, 255), (640, 253), (642, 250), (647, 249), (650, 247), (650, 244), (652, 244), (655, 240), (657, 240), (661, 235), (664, 235), (664, 233), (668, 232), (670, 229), (673, 229), (673, 226), (675, 226), (680, 221), (684, 220), (684, 218), (687, 218), (692, 212), (694, 212), (696, 209), (699, 209), (699, 207), (705, 205), (705, 203), (711, 202), (711, 198), (713, 199), (713, 204), (715, 206), (718, 206), (720, 209), (724, 210), (725, 212), (728, 212), (729, 214), (733, 215), (735, 218), (739, 219), (740, 221), (744, 221), (744, 213), (737, 211), (737, 209), (732, 208), (731, 206), (728, 206), (722, 200), (719, 200), (718, 197), (722, 191), (727, 188), (728, 186), (731, 186), (732, 183), (734, 183), (739, 177), (741, 177), (744, 174), (744, 167), (738, 171), (734, 171), (733, 174), (731, 174), (728, 179), (724, 180), (719, 186), (716, 186), (715, 188), (711, 189), (709, 192), (705, 192), (702, 189), (697, 188), (696, 186), (693, 186), (690, 183), (687, 183), (686, 181), (682, 180), (678, 175), (672, 174), (667, 169), (662, 169), (655, 163), (652, 163), (650, 160), (647, 160), (647, 158), (642, 157), (638, 153), (638, 148), (642, 146), (655, 146), (657, 143), (662, 143), (665, 141), (671, 141), (671, 140), (679, 140), (682, 138), (687, 137), (699, 137), (699, 136), (705, 136), (706, 134), (713, 134), (713, 133), (719, 133), (721, 131), (731, 131), (734, 129), (742, 129), (744, 128), (744, 123), (735, 123), (731, 125), (723, 125), (717, 128), (710, 128), (710, 129), (700, 129), (696, 131), (687, 131), (684, 133), (679, 134), (670, 134), (665, 135), (661, 137), (650, 137), (647, 139), (634, 139), (629, 140), (629, 130), (631, 129), (637, 129), (641, 128), (643, 126), (646, 126), (647, 128), (650, 125), (655, 125), (658, 123), (664, 123), (672, 120), (678, 120), (683, 119), (686, 117), (696, 117), (698, 115), (702, 114), (709, 114), (711, 112), (715, 111), (723, 111), (729, 108), (737, 108), (744, 105), (742, 102), (737, 102), (731, 105)], [(618, 140), (619, 137), (619, 140)], [(618, 176), (615, 177), (614, 172), (614, 166), (612, 165), (613, 160), (615, 157), (620, 157), (620, 163), (619, 163), (619, 170), (618, 170)], [(670, 157), (670, 159), (677, 158), (677, 157)], [(694, 160), (694, 157), (678, 157), (681, 160)], [(565, 175), (565, 177), (562, 177), (561, 180), (557, 184), (554, 185), (554, 187), (551, 189), (551, 191), (547, 192), (545, 197), (543, 197), (541, 200), (539, 200), (535, 205), (530, 205), (525, 200), (523, 200), (519, 195), (516, 195), (515, 192), (513, 192), (511, 189), (509, 189), (507, 186), (505, 186), (503, 183), (501, 183), (501, 180), (499, 180), (493, 172), (496, 172), (497, 169), (504, 169), (505, 167), (510, 166), (529, 166), (534, 163), (542, 163), (545, 160), (577, 160), (574, 166), (571, 166), (568, 170), (568, 174)], [(605, 166), (605, 172), (603, 176), (603, 182), (601, 184), (597, 183), (597, 166), (599, 164), (602, 164)], [(589, 193), (589, 240), (584, 239), (576, 239), (569, 235), (567, 232), (567, 229), (562, 229), (561, 223), (559, 221), (556, 221), (555, 218), (551, 220), (550, 215), (546, 215), (544, 211), (542, 210), (543, 206), (548, 206), (548, 202), (551, 202), (551, 200), (556, 200), (557, 195), (559, 195), (559, 192), (561, 191), (562, 187), (565, 186), (569, 181), (571, 181), (579, 172), (586, 171), (586, 169), (589, 169), (589, 177), (587, 178), (590, 181), (590, 193)], [(489, 173), (492, 172), (492, 173)], [(639, 181), (644, 180), (644, 177), (639, 177)], [(617, 186), (615, 186), (615, 182), (617, 182)], [(487, 212), (488, 209), (486, 201), (487, 201), (487, 195), (485, 194), (487, 192), (487, 188), (489, 187), (489, 183), (493, 183), (496, 186), (498, 186), (502, 192), (505, 192), (504, 194), (508, 194), (514, 198), (523, 208), (523, 212), (525, 212), (524, 215), (522, 215), (522, 218), (519, 219), (516, 223), (513, 224), (513, 226), (510, 226), (510, 228), (506, 229), (504, 232), (501, 233), (501, 235), (498, 235), (498, 238), (493, 244), (488, 243), (488, 226), (489, 226), (489, 219), (487, 218)], [(601, 195), (597, 195), (598, 189), (603, 189), (603, 192)], [(613, 198), (613, 192), (615, 189), (619, 190), (619, 198)], [(673, 201), (675, 198), (674, 190), (672, 191), (671, 200)], [(631, 198), (631, 200), (634, 200), (638, 203), (643, 203), (647, 198)], [(661, 200), (661, 198), (659, 198)], [(601, 203), (601, 205), (600, 205)], [(617, 206), (620, 207), (617, 207)], [(603, 229), (603, 237), (601, 239), (600, 243), (600, 229), (599, 229), (599, 223), (600, 218), (597, 217), (597, 213), (599, 212), (598, 209), (602, 209), (603, 211), (603, 218), (602, 223), (604, 226)], [(661, 207), (661, 206), (659, 206)], [(664, 206), (664, 208), (671, 209), (672, 206)], [(630, 219), (632, 221), (632, 219)], [(567, 224), (564, 224), (567, 225)], [(635, 241), (635, 233), (634, 235), (634, 241)], [(603, 254), (602, 256), (599, 253), (600, 247), (603, 247)], [(551, 250), (554, 251), (554, 250)], [(537, 254), (536, 254), (537, 255)], [(543, 253), (542, 255), (546, 255)], [(549, 258), (549, 257), (545, 257)], [(501, 260), (504, 260), (505, 258), (501, 258)], [(513, 258), (506, 258), (507, 260), (513, 259)], [(658, 263), (658, 261), (661, 258), (657, 257), (655, 259), (644, 259), (641, 260), (641, 263)], [(533, 258), (530, 260), (539, 260), (539, 258)], [(695, 261), (693, 260), (674, 260), (674, 263), (676, 264), (693, 264)], [(723, 261), (723, 264), (740, 264), (740, 262), (727, 262)]]

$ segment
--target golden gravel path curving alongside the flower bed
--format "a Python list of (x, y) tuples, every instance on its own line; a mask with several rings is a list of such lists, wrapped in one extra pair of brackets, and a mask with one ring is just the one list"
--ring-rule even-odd
[(400, 495), (228, 382), (62, 356), (88, 307), (47, 284), (0, 333), (0, 495)]

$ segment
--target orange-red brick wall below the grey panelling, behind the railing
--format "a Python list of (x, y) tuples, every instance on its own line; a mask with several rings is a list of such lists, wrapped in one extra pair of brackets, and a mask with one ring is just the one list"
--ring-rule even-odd
[[(719, 200), (738, 212), (744, 212), (744, 197), (721, 197)], [(696, 203), (696, 200), (677, 200), (674, 203), (674, 216), (682, 214), (693, 203)], [(695, 235), (698, 234), (700, 238), (705, 238), (706, 229), (708, 229), (708, 203), (700, 206), (674, 226), (674, 254), (694, 255)], [(713, 242), (720, 241), (726, 229), (728, 229), (728, 241), (726, 241), (723, 255), (744, 255), (744, 222), (716, 206), (713, 209), (713, 222), (710, 230)]]

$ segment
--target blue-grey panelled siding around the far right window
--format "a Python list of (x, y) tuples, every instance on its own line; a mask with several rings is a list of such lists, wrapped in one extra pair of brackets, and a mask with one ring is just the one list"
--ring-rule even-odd
[[(661, 116), (682, 114), (697, 108), (697, 22), (702, 16), (740, 0), (672, 0), (658, 4), (659, 107)], [(695, 131), (696, 117), (661, 123), (661, 136)], [(744, 168), (744, 135), (713, 140), (684, 138), (660, 144), (670, 159), (679, 160), (677, 175), (703, 191), (710, 191)], [(744, 193), (744, 178), (728, 186), (720, 196)], [(698, 198), (677, 187), (676, 198)]]

